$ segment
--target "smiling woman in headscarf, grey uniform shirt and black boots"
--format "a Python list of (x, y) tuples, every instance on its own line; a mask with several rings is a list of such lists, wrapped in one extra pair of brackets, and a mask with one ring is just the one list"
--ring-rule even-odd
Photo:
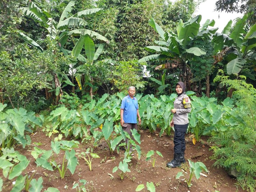
[(185, 133), (188, 127), (188, 113), (191, 112), (191, 101), (185, 93), (186, 87), (183, 82), (176, 84), (176, 92), (178, 97), (174, 101), (174, 108), (171, 110), (173, 118), (170, 126), (174, 126), (174, 158), (167, 163), (167, 167), (179, 167), (181, 163), (185, 163)]

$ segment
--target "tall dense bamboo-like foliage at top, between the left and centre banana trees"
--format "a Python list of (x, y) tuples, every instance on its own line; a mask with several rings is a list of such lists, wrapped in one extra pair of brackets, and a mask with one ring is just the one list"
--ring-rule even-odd
[(97, 4), (104, 10), (111, 10), (107, 13), (108, 18), (102, 20), (103, 24), (96, 22), (96, 28), (104, 36), (111, 35), (113, 41), (105, 47), (105, 53), (117, 60), (146, 56), (147, 51), (143, 47), (153, 45), (157, 39), (157, 33), (148, 28), (148, 19), (153, 17), (158, 23), (164, 20), (161, 24), (163, 29), (174, 27), (179, 19), (187, 21), (197, 5), (194, 0), (175, 3), (166, 0), (99, 0)]

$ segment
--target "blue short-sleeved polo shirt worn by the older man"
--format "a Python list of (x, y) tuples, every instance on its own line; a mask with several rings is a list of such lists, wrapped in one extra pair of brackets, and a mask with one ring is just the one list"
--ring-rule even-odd
[(138, 100), (129, 95), (124, 97), (121, 104), (121, 109), (124, 109), (124, 121), (125, 123), (137, 123), (137, 109), (139, 109)]

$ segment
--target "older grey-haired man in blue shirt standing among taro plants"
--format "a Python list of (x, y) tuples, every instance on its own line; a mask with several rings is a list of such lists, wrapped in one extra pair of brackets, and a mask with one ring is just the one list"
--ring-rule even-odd
[[(128, 89), (128, 95), (124, 97), (120, 109), (120, 123), (124, 131), (131, 135), (131, 129), (138, 130), (137, 116), (139, 118), (139, 124), (141, 124), (138, 100), (134, 97), (135, 87), (131, 86)], [(125, 140), (126, 144), (128, 139)], [(131, 150), (131, 149), (129, 149)]]

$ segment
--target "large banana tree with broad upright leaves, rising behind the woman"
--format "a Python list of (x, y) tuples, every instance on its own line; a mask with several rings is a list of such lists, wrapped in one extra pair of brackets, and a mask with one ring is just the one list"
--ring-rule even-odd
[(162, 40), (155, 41), (155, 43), (160, 46), (147, 46), (145, 49), (150, 53), (158, 52), (159, 54), (143, 57), (139, 62), (160, 60), (167, 62), (166, 64), (158, 66), (158, 69), (175, 69), (179, 67), (181, 80), (183, 80), (183, 82), (187, 84), (188, 89), (191, 90), (190, 79), (192, 78), (192, 73), (190, 71), (189, 61), (195, 56), (206, 54), (203, 49), (194, 47), (193, 43), (199, 36), (211, 36), (217, 31), (217, 28), (208, 29), (208, 26), (214, 26), (214, 20), (207, 20), (200, 29), (201, 18), (201, 15), (198, 15), (191, 18), (186, 23), (180, 20), (176, 28), (177, 33), (163, 31), (163, 29), (155, 23), (155, 20), (151, 18), (148, 23), (159, 33)]

